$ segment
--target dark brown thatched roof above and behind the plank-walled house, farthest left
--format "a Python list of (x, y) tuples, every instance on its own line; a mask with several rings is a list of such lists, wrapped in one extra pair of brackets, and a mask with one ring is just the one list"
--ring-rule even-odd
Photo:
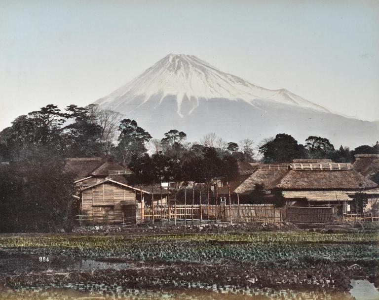
[(74, 175), (75, 180), (91, 175), (97, 168), (105, 163), (101, 157), (77, 157), (66, 159), (65, 170)]

